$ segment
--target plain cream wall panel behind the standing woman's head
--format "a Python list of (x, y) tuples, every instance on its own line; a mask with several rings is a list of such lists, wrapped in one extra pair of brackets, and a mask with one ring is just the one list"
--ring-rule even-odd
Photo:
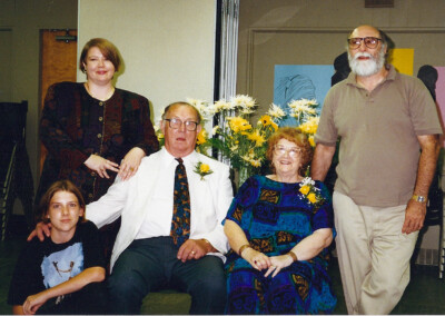
[(147, 97), (159, 118), (187, 97), (212, 101), (215, 19), (212, 0), (79, 0), (78, 56), (91, 38), (113, 42), (125, 61), (117, 87)]

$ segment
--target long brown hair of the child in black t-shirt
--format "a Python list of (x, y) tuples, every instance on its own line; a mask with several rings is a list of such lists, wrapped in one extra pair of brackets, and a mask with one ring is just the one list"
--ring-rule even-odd
[(49, 206), (50, 206), (52, 197), (58, 191), (68, 191), (68, 192), (73, 194), (77, 197), (79, 207), (83, 209), (83, 215), (80, 217), (79, 223), (85, 221), (86, 220), (86, 218), (85, 218), (86, 204), (85, 204), (83, 196), (80, 192), (80, 190), (78, 189), (78, 187), (76, 187), (76, 185), (72, 184), (70, 180), (59, 180), (59, 181), (53, 182), (49, 187), (49, 189), (46, 191), (46, 194), (40, 199), (37, 218), (44, 223), (49, 221), (47, 218)]

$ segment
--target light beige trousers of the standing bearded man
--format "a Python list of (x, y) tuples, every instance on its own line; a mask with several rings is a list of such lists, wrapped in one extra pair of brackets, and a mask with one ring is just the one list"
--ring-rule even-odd
[(402, 234), (406, 206), (359, 206), (336, 191), (333, 203), (348, 314), (389, 314), (409, 283), (418, 236)]

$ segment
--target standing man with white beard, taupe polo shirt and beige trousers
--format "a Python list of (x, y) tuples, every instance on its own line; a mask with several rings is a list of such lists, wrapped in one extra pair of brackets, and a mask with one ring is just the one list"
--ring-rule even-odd
[(409, 282), (442, 128), (422, 81), (386, 65), (383, 32), (360, 26), (347, 42), (352, 72), (326, 96), (312, 176), (325, 179), (339, 138), (333, 201), (346, 306), (389, 314)]

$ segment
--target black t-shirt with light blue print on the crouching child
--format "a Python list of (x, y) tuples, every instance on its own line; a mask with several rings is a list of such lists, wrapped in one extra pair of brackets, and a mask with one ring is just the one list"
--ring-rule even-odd
[[(71, 240), (51, 238), (27, 243), (16, 265), (8, 304), (22, 305), (29, 295), (55, 287), (89, 267), (106, 267), (99, 231), (91, 221), (79, 223)], [(58, 297), (56, 304), (63, 300)]]

